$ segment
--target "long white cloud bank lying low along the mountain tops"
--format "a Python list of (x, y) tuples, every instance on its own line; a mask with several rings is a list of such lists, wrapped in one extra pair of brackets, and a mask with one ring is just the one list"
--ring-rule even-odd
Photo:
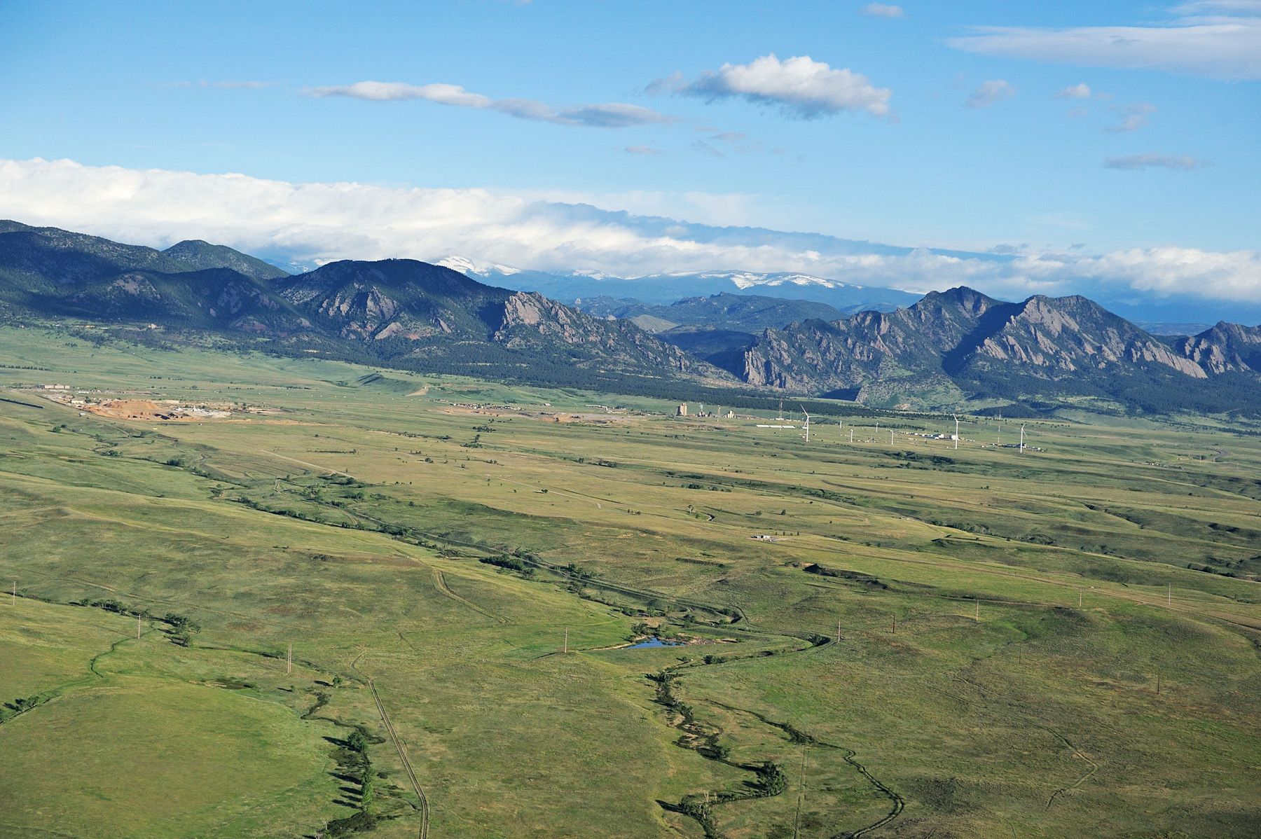
[[(615, 200), (604, 197), (601, 203)], [(520, 268), (623, 277), (796, 271), (917, 292), (962, 283), (1009, 299), (1108, 291), (1261, 305), (1258, 251), (942, 251), (715, 227), (487, 189), (294, 184), (38, 157), (0, 160), (0, 217), (158, 247), (200, 238), (296, 263), (462, 254)]]

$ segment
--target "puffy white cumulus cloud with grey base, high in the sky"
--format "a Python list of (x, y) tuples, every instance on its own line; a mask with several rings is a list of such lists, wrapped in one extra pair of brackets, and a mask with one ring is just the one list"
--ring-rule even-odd
[(710, 102), (743, 98), (778, 106), (786, 116), (799, 120), (844, 111), (865, 111), (886, 117), (893, 93), (886, 87), (873, 86), (866, 76), (849, 68), (835, 69), (810, 55), (779, 60), (774, 53), (748, 64), (723, 64), (716, 71), (705, 71), (691, 82), (675, 73), (657, 79), (648, 86), (648, 91), (695, 96)]

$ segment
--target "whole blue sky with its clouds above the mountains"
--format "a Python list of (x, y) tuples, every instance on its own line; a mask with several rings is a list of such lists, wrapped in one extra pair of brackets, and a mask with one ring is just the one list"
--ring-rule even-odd
[[(460, 251), (623, 273), (706, 260), (832, 275), (849, 265), (758, 253), (757, 237), (697, 253), (687, 225), (677, 247), (653, 242), (648, 260), (625, 218), (578, 243), (589, 219), (566, 232), (556, 214), (591, 204), (1037, 257), (1028, 276), (939, 266), (941, 282), (971, 276), (1009, 294), (1073, 290), (1079, 273), (1142, 294), (1211, 288), (1261, 302), (1261, 3), (1251, 0), (11, 0), (5, 18), (0, 159), (13, 163), (0, 212), (19, 220), (153, 243), (218, 237), (317, 260)], [(119, 205), (111, 178), (140, 189), (135, 173), (150, 170), (130, 203), (153, 213)], [(257, 181), (180, 191), (160, 173), (185, 188), (174, 173)], [(264, 181), (286, 185), (269, 188), (284, 197)], [(293, 200), (288, 185), (329, 183), (375, 191), (342, 208), (308, 197), (276, 217), (275, 204)], [(233, 223), (248, 220), (242, 190), (259, 202), (262, 232)], [(398, 213), (376, 208), (376, 228), (424, 233), (351, 229), (372, 197)], [(552, 223), (531, 241), (540, 202)], [(458, 229), (417, 222), (430, 213), (468, 218)], [(303, 225), (342, 234), (304, 238)], [(1064, 265), (1052, 271), (1047, 254)], [(1078, 271), (1074, 254), (1100, 262)], [(854, 271), (934, 282), (933, 266)]]

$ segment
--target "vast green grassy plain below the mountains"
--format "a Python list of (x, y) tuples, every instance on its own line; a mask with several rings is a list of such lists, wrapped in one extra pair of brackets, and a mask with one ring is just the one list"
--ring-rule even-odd
[[(33, 329), (0, 363), (3, 835), (1261, 830), (1256, 428), (807, 443)], [(617, 649), (644, 624), (694, 642)]]

